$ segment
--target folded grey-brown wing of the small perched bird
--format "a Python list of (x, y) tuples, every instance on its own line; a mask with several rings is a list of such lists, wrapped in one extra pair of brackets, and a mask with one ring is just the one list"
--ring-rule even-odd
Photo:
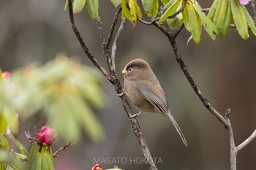
[[(135, 83), (135, 88), (139, 91), (139, 93), (149, 101), (157, 110), (161, 113), (161, 115), (167, 115), (169, 112), (169, 106), (167, 102), (167, 98), (165, 93), (163, 92), (161, 87), (155, 87), (152, 83), (148, 83), (146, 81), (140, 80)], [(160, 89), (159, 89), (160, 88)]]

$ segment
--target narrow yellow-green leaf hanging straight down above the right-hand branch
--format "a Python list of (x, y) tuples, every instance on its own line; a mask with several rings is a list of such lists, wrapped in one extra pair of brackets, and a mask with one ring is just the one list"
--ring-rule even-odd
[(189, 18), (189, 26), (190, 26), (190, 31), (193, 36), (193, 39), (196, 43), (200, 42), (200, 30), (201, 30), (201, 23), (200, 20), (197, 19), (197, 12), (195, 12), (195, 8), (193, 7), (192, 4), (188, 3), (188, 18)]

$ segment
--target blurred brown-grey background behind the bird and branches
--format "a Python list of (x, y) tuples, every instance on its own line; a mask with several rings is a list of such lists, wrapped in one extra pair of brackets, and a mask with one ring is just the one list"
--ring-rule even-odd
[[(2, 71), (12, 71), (35, 61), (46, 63), (59, 53), (66, 53), (70, 58), (79, 58), (83, 64), (91, 65), (70, 28), (68, 12), (64, 12), (64, 0), (0, 1)], [(99, 15), (108, 33), (116, 9), (110, 1), (99, 2)], [(211, 1), (200, 0), (199, 4), (210, 7)], [(85, 9), (75, 20), (86, 45), (106, 66), (95, 22), (89, 18)], [(231, 109), (230, 120), (238, 145), (256, 128), (255, 36), (250, 34), (250, 38), (244, 41), (235, 29), (230, 28), (227, 36), (217, 37), (215, 42), (204, 33), (199, 45), (191, 41), (187, 46), (189, 36), (185, 29), (178, 36), (178, 51), (203, 95), (214, 108), (222, 115), (227, 108)], [(152, 156), (159, 161), (158, 169), (229, 169), (227, 131), (195, 95), (176, 63), (167, 38), (154, 26), (138, 22), (133, 28), (132, 23), (128, 22), (118, 41), (116, 53), (121, 82), (121, 70), (134, 58), (143, 58), (151, 64), (169, 98), (171, 112), (189, 144), (189, 147), (184, 146), (166, 117), (140, 115), (138, 121), (141, 131)], [(96, 112), (105, 130), (105, 140), (94, 143), (84, 134), (75, 146), (60, 152), (56, 158), (56, 169), (91, 169), (96, 164), (95, 160), (103, 161), (98, 162), (103, 169), (110, 169), (114, 165), (127, 170), (148, 169), (145, 163), (138, 162), (143, 159), (143, 154), (120, 99), (112, 85), (104, 78), (102, 80), (107, 103)], [(18, 139), (23, 140), (23, 131), (33, 131), (34, 125), (39, 127), (43, 124), (45, 122), (38, 117), (20, 120)], [(53, 150), (63, 144), (59, 140)], [(238, 169), (256, 169), (255, 151), (256, 140), (238, 152)], [(104, 162), (107, 158), (110, 163)], [(115, 163), (115, 158), (116, 161), (117, 158), (123, 158), (123, 162), (119, 160)], [(131, 161), (135, 158), (138, 161)]]

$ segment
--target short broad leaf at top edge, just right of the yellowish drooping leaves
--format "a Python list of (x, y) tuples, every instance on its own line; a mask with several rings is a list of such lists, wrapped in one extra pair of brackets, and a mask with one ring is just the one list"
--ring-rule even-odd
[(142, 4), (148, 17), (157, 17), (159, 7), (158, 0), (142, 0)]

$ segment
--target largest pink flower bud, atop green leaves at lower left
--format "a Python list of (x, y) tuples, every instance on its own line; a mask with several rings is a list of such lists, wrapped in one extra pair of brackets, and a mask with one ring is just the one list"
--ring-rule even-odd
[(37, 142), (45, 146), (53, 145), (53, 142), (57, 138), (56, 132), (52, 128), (50, 128), (49, 125), (42, 126), (41, 131), (39, 133), (36, 133), (36, 136)]

